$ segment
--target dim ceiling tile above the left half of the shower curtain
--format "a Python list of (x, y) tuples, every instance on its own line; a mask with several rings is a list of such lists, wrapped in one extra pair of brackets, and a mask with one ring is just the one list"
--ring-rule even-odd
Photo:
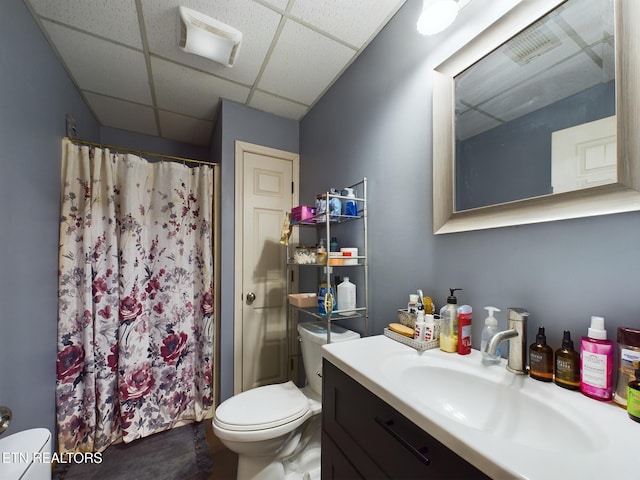
[(91, 92), (85, 92), (84, 97), (101, 125), (146, 135), (158, 135), (156, 118), (151, 107)]

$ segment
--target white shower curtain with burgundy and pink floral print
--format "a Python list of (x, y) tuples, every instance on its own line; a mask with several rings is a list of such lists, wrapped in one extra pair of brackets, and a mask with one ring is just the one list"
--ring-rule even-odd
[(202, 420), (213, 404), (213, 169), (62, 148), (60, 452)]

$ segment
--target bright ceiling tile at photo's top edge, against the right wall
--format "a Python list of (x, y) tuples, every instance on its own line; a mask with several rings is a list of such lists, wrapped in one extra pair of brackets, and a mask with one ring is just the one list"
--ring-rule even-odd
[(291, 14), (360, 48), (404, 2), (376, 0), (376, 8), (371, 8), (371, 0), (296, 0)]

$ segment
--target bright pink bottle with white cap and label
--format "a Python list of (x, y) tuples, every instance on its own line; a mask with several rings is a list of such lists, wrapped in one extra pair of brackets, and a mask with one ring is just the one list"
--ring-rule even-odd
[(607, 340), (603, 317), (591, 317), (580, 340), (580, 391), (604, 402), (613, 396), (613, 342)]

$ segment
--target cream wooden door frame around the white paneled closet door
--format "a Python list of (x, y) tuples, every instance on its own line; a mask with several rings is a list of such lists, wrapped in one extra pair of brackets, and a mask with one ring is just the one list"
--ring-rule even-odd
[[(242, 391), (242, 362), (243, 362), (243, 320), (242, 304), (244, 293), (242, 291), (243, 272), (243, 218), (244, 218), (244, 154), (255, 153), (257, 155), (272, 156), (289, 160), (292, 163), (293, 189), (291, 192), (292, 205), (298, 205), (298, 185), (300, 182), (300, 155), (298, 153), (278, 150), (253, 143), (235, 141), (235, 205), (234, 205), (234, 300), (233, 300), (233, 394)], [(283, 219), (284, 220), (284, 219)]]

